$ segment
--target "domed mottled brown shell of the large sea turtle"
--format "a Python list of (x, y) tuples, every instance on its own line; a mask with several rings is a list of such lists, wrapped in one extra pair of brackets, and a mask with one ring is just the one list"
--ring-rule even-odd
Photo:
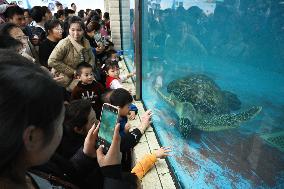
[(200, 114), (223, 114), (229, 112), (228, 103), (220, 87), (208, 76), (192, 74), (173, 80), (167, 91), (179, 102), (190, 102)]

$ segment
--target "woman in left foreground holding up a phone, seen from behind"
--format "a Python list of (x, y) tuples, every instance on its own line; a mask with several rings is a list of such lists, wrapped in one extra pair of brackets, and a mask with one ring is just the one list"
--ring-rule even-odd
[[(135, 187), (121, 179), (118, 125), (106, 155), (94, 148), (99, 127), (93, 125), (73, 158), (58, 157), (65, 112), (61, 88), (20, 55), (0, 50), (0, 57), (0, 188), (85, 188), (91, 169), (102, 171), (104, 188)], [(46, 169), (35, 168), (41, 164)], [(87, 188), (97, 188), (95, 180)]]

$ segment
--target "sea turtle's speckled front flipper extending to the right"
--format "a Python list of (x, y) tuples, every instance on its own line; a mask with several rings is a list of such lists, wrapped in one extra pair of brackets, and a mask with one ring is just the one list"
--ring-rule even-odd
[(234, 129), (239, 127), (241, 123), (254, 118), (261, 111), (261, 109), (262, 107), (260, 106), (254, 106), (238, 114), (215, 115), (213, 117), (201, 119), (197, 125), (197, 129), (202, 131), (222, 131)]

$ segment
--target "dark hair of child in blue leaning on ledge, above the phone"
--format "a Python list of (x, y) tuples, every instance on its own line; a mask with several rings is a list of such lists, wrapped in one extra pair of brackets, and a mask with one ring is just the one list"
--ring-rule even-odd
[(133, 98), (127, 90), (118, 88), (113, 90), (109, 100), (112, 105), (123, 108), (125, 105), (131, 103), (133, 101)]

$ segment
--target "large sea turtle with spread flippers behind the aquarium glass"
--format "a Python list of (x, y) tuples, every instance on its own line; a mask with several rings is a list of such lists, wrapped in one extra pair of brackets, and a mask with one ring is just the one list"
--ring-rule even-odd
[(237, 128), (262, 109), (253, 106), (241, 113), (230, 113), (240, 108), (237, 96), (222, 91), (211, 78), (203, 74), (191, 74), (171, 81), (167, 86), (169, 95), (163, 94), (161, 88), (155, 90), (174, 107), (179, 117), (178, 129), (186, 138), (189, 137), (192, 127), (202, 131)]

